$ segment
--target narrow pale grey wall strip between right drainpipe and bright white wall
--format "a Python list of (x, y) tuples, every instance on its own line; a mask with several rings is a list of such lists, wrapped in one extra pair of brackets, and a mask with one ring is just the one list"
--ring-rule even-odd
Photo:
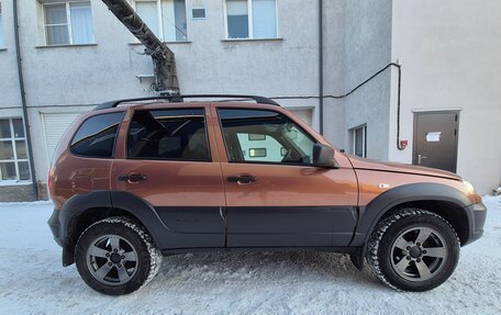
[[(346, 1), (345, 92), (391, 61), (391, 0)], [(388, 159), (390, 77), (388, 69), (345, 99), (345, 135), (367, 125), (367, 157)]]

